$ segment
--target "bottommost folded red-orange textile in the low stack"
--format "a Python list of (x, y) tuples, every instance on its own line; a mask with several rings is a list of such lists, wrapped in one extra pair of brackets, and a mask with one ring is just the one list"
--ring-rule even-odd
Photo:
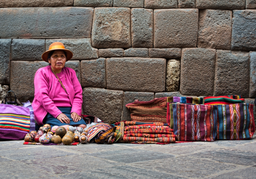
[(172, 137), (159, 137), (159, 138), (146, 138), (146, 137), (123, 137), (124, 142), (160, 142), (160, 143), (175, 143), (175, 138)]

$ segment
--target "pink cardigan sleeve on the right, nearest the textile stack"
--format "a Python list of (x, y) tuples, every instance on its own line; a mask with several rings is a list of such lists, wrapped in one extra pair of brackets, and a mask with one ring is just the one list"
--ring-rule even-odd
[(83, 103), (83, 90), (77, 79), (76, 72), (72, 73), (72, 84), (75, 91), (75, 96), (72, 104), (71, 113), (76, 112), (79, 116), (82, 113), (82, 103)]

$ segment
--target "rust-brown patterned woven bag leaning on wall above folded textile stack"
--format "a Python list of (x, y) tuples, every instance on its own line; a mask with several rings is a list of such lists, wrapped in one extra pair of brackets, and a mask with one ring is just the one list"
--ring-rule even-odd
[(137, 122), (166, 123), (167, 97), (125, 105), (131, 112), (131, 120)]

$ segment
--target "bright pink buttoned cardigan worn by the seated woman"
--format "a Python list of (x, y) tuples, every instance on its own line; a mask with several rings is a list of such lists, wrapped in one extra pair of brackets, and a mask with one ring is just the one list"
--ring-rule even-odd
[[(64, 76), (61, 80), (68, 93), (70, 103), (72, 105), (71, 113), (76, 112), (81, 115), (82, 112), (82, 87), (77, 79), (76, 72), (68, 67), (63, 69)], [(37, 70), (34, 79), (35, 98), (32, 103), (34, 109), (35, 120), (38, 125), (43, 124), (43, 119), (47, 112), (57, 118), (61, 111), (54, 105), (52, 101), (56, 93), (56, 86), (60, 83), (54, 73), (51, 71), (51, 65)], [(61, 100), (61, 99), (58, 99)]]

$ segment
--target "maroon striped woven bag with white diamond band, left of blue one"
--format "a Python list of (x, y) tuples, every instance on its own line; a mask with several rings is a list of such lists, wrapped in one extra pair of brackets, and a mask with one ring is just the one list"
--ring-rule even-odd
[(178, 141), (214, 141), (217, 134), (216, 105), (169, 104), (167, 120)]

